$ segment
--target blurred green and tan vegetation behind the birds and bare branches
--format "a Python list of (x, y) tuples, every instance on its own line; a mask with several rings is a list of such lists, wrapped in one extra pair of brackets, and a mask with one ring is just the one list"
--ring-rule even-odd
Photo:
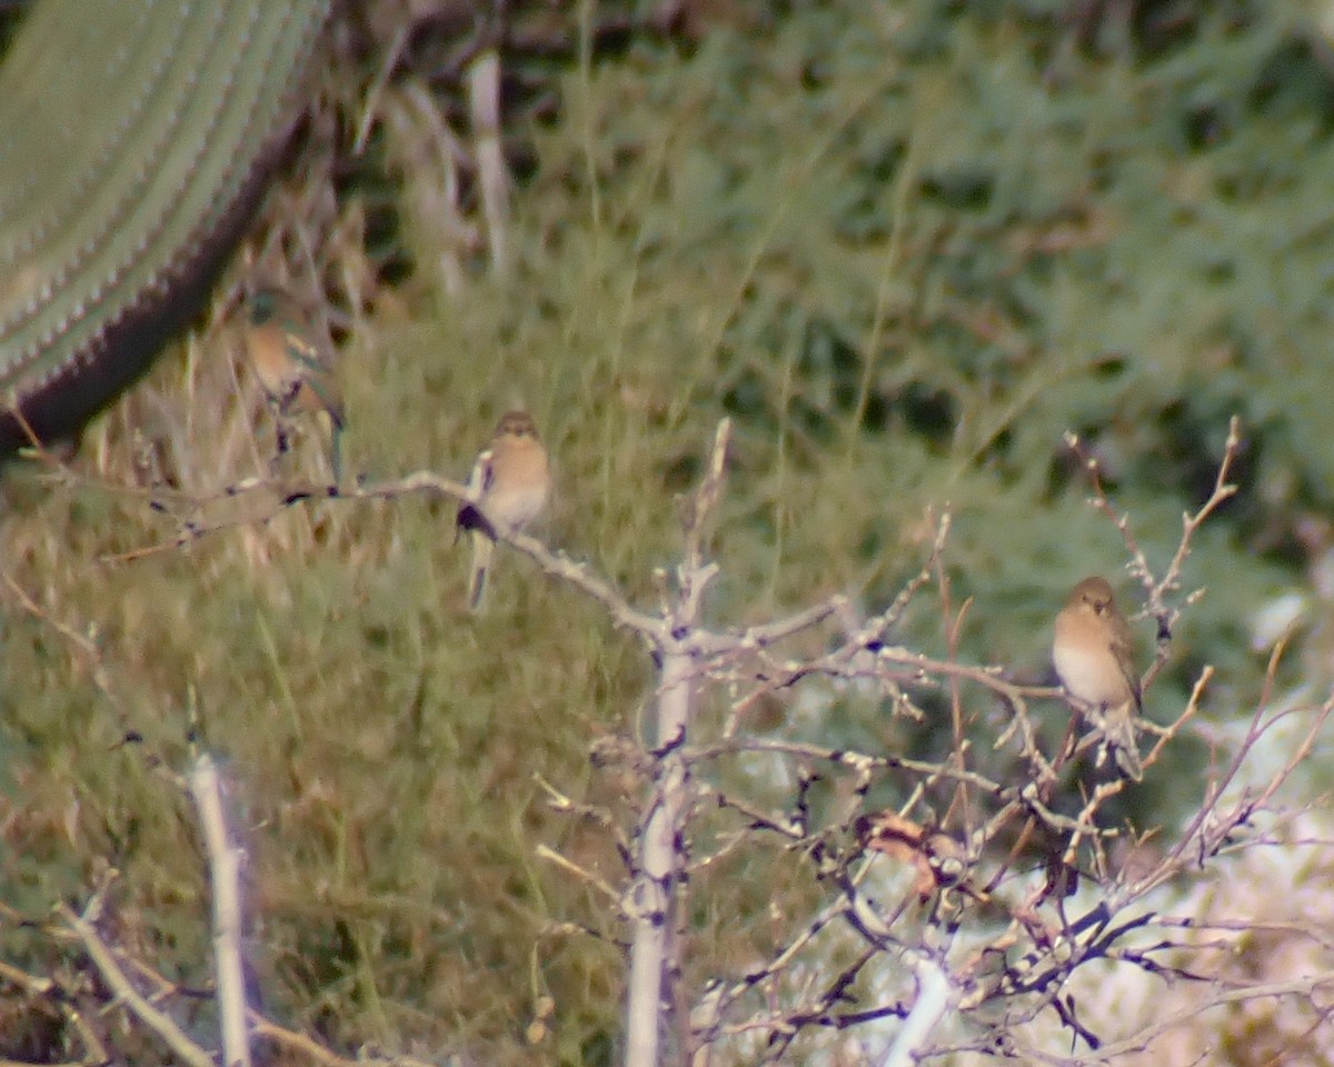
[[(1209, 592), (1147, 699), (1167, 720), (1211, 663), (1205, 732), (1226, 738), (1259, 695), (1274, 634), (1255, 620), (1281, 595), (1302, 596), (1285, 686), (1323, 692), (1334, 670), (1322, 12), (516, 3), (516, 265), (502, 277), (468, 231), (472, 12), (347, 5), (252, 247), (329, 299), (352, 469), (462, 477), (522, 401), (556, 463), (552, 543), (651, 603), (679, 540), (672, 496), (731, 415), (715, 620), (834, 591), (882, 608), (948, 504), (946, 571), (956, 602), (975, 598), (960, 655), (1031, 680), (1075, 580), (1105, 574), (1135, 606), (1062, 433), (1102, 460), (1162, 568), (1238, 413), (1242, 491), (1195, 542), (1187, 588)], [(468, 618), (443, 501), (315, 504), (111, 559), (175, 535), (145, 479), (217, 492), (265, 473), (271, 448), (220, 299), (63, 475), (5, 473), (4, 903), (40, 918), (109, 863), (120, 942), (205, 983), (193, 819), (153, 770), (183, 764), (193, 715), (235, 784), (267, 1011), (344, 1050), (611, 1062), (619, 952), (558, 927), (603, 928), (602, 906), (535, 847), (610, 878), (615, 855), (552, 815), (535, 775), (632, 802), (588, 747), (638, 732), (651, 664), (515, 556), (490, 614)], [(297, 445), (297, 468), (320, 463), (316, 439)], [(944, 652), (931, 596), (898, 639)], [(800, 730), (871, 748), (947, 740), (870, 702)], [(127, 732), (143, 742), (117, 744)], [(1141, 824), (1171, 826), (1198, 795), (1187, 750), (1150, 774)], [(771, 922), (774, 872), (731, 875), (727, 907), (695, 916), (718, 960)], [(60, 966), (35, 932), (0, 935), (7, 959)], [(546, 995), (551, 1031), (531, 1044)]]

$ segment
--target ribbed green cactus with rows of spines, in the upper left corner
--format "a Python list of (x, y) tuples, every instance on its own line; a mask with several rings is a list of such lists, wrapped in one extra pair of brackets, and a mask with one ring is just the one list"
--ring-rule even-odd
[(77, 429), (197, 309), (329, 4), (33, 7), (0, 64), (0, 453)]

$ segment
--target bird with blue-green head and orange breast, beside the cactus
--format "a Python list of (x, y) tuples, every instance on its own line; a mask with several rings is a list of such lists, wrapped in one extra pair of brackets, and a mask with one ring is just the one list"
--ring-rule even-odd
[(323, 411), (329, 417), (334, 483), (342, 481), (343, 396), (328, 340), (317, 337), (289, 296), (260, 289), (249, 297), (245, 352), (277, 420), (279, 455), (287, 451), (287, 417)]

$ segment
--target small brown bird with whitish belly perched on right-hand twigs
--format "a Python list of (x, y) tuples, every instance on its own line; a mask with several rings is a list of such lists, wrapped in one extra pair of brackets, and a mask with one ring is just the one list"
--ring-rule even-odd
[(1086, 578), (1057, 616), (1051, 662), (1071, 703), (1099, 730), (1117, 766), (1139, 782), (1143, 768), (1135, 716), (1142, 706), (1131, 643), (1111, 586), (1102, 578)]

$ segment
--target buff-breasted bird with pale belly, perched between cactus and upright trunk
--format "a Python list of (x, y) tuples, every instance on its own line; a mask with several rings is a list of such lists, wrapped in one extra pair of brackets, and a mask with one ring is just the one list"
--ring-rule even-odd
[[(463, 531), (472, 539), (472, 571), (468, 575), (468, 608), (478, 611), (486, 592), (487, 568), (495, 551), (491, 520), (523, 529), (551, 499), (551, 464), (538, 436), (538, 425), (526, 411), (508, 411), (472, 465), (470, 500), (459, 507), (455, 540)], [(486, 515), (476, 505), (480, 504)]]

